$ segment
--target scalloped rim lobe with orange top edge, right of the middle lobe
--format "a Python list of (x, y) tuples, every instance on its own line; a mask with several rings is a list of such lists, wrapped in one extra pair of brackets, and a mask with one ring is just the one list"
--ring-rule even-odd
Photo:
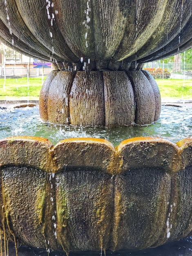
[(138, 137), (118, 145), (123, 158), (123, 170), (157, 167), (168, 171), (182, 168), (181, 157), (175, 144), (162, 138)]

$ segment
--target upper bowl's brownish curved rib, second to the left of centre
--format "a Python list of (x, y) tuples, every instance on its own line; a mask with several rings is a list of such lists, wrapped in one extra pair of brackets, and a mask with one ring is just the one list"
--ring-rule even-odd
[(17, 2), (17, 8), (24, 24), (37, 42), (40, 42), (42, 48), (49, 49), (51, 58), (58, 56), (61, 60), (78, 60), (63, 40), (55, 18), (51, 25), (52, 14), (56, 16), (51, 4), (48, 7), (48, 3), (44, 0), (33, 0), (33, 2), (20, 0)]

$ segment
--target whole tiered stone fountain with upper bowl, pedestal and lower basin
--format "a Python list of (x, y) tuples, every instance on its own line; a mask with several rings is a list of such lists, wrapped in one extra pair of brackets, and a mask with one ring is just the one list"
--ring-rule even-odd
[[(192, 47), (191, 0), (0, 0), (0, 40), (54, 63), (44, 121), (131, 126), (159, 119), (143, 63)], [(0, 229), (49, 251), (143, 249), (192, 231), (192, 139), (0, 141)]]

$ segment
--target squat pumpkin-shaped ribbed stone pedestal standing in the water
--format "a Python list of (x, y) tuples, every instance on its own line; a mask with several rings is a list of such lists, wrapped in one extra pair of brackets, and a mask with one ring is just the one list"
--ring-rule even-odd
[(44, 121), (74, 126), (132, 126), (159, 119), (161, 96), (148, 72), (55, 71), (40, 93)]

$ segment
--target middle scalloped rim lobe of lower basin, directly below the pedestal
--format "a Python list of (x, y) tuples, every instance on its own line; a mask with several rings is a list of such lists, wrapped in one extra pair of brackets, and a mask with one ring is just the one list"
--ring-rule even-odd
[(64, 139), (54, 147), (57, 169), (97, 168), (112, 172), (111, 162), (115, 158), (114, 146), (105, 139), (77, 138)]

